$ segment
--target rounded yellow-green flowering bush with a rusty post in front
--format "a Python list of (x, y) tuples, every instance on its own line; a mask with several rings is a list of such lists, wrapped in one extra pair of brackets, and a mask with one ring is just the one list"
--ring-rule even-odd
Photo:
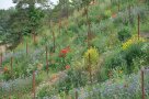
[(96, 64), (98, 61), (99, 61), (99, 57), (100, 57), (98, 48), (95, 48), (95, 47), (90, 47), (90, 48), (84, 53), (84, 59), (85, 59), (87, 62), (89, 62), (89, 55), (90, 55), (90, 62), (91, 62), (91, 64)]

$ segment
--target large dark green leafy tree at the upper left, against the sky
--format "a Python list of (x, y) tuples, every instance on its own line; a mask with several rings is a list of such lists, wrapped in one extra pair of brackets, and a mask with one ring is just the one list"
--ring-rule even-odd
[[(16, 12), (11, 15), (9, 25), (13, 43), (19, 43), (24, 35), (37, 34), (44, 18), (42, 6), (45, 6), (46, 0), (13, 0), (13, 2), (16, 3)], [(41, 4), (41, 8), (36, 4)]]

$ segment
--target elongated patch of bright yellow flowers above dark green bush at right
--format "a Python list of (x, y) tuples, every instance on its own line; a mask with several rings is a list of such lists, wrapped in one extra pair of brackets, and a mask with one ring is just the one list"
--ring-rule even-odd
[(123, 43), (122, 48), (125, 51), (133, 44), (145, 42), (146, 40), (144, 37), (139, 37), (137, 35), (134, 35), (131, 38), (129, 38), (127, 42)]

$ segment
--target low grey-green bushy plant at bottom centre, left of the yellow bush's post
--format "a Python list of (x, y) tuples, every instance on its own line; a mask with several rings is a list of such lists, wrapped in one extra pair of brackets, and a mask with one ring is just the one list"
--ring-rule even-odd
[(81, 69), (69, 69), (67, 76), (58, 81), (56, 89), (68, 94), (72, 88), (85, 86), (87, 80), (87, 75)]

